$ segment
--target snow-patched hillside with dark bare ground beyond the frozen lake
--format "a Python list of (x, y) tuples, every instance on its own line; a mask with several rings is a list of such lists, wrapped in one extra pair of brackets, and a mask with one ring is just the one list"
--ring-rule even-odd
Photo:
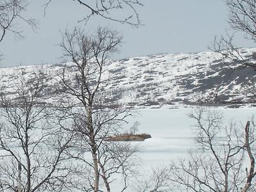
[[(241, 54), (253, 59), (256, 48), (241, 49)], [(104, 102), (157, 107), (177, 102), (216, 103), (216, 95), (221, 102), (251, 102), (246, 97), (246, 84), (255, 82), (256, 72), (252, 68), (234, 70), (235, 64), (231, 61), (223, 64), (221, 55), (215, 52), (157, 54), (109, 61), (102, 76), (105, 82), (108, 81)], [(62, 64), (44, 66), (47, 68), (45, 77), (50, 74), (54, 77), (42, 95), (49, 104), (72, 99), (63, 93), (54, 76), (62, 67)], [(15, 97), (16, 75), (23, 69), (29, 77), (36, 68), (38, 66), (0, 68), (1, 86)]]

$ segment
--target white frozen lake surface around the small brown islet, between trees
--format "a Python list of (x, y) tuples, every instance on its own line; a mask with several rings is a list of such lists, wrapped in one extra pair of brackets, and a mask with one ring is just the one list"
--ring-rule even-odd
[[(170, 160), (184, 157), (188, 150), (195, 145), (195, 120), (188, 117), (188, 114), (195, 108), (179, 109), (138, 109), (138, 115), (129, 118), (131, 127), (134, 122), (140, 122), (138, 126), (141, 133), (151, 134), (152, 138), (143, 142), (136, 142), (140, 146), (141, 161), (145, 166), (161, 166), (168, 164)], [(224, 124), (231, 121), (237, 122), (241, 129), (256, 114), (256, 108), (210, 108), (218, 109), (223, 113)]]

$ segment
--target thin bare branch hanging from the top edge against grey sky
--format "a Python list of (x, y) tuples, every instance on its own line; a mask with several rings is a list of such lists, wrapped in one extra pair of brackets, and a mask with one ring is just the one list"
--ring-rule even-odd
[[(48, 0), (48, 2), (45, 4), (45, 8), (49, 6), (51, 1), (54, 0)], [(135, 27), (141, 25), (141, 20), (136, 10), (136, 6), (143, 6), (139, 0), (93, 0), (91, 2), (85, 0), (75, 0), (75, 3), (80, 4), (90, 12), (81, 21), (87, 22), (92, 16), (98, 15), (104, 19), (113, 20), (122, 24), (129, 24)], [(127, 14), (124, 14), (124, 12)], [(121, 13), (124, 16), (120, 17), (120, 14), (118, 13)]]

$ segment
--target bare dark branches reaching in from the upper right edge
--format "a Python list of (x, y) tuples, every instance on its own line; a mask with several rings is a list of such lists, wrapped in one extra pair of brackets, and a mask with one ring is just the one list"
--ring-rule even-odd
[[(212, 51), (218, 52), (222, 56), (222, 62), (228, 67), (244, 69), (247, 73), (247, 68), (252, 68), (252, 72), (256, 67), (256, 54), (251, 56), (244, 55), (243, 49), (235, 45), (236, 33), (242, 33), (244, 38), (256, 42), (256, 1), (255, 0), (225, 0), (229, 10), (228, 22), (232, 29), (232, 35), (220, 36), (214, 38), (212, 46), (209, 47)], [(255, 79), (248, 78), (244, 81), (245, 94), (248, 102), (255, 102)], [(221, 99), (218, 99), (221, 101)], [(222, 101), (221, 101), (222, 102)]]

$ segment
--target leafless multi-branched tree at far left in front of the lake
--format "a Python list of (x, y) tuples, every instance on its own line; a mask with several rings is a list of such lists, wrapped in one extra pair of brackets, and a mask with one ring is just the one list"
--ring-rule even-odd
[[(22, 70), (13, 82), (15, 97), (1, 89), (0, 191), (64, 191), (69, 165), (65, 150), (72, 134), (65, 134), (42, 105), (49, 81), (39, 70)], [(19, 165), (19, 166), (18, 166)]]

